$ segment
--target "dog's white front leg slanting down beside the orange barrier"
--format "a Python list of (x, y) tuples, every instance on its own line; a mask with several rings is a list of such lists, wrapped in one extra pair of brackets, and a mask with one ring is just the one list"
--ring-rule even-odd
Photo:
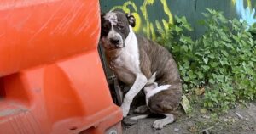
[(130, 110), (130, 105), (133, 100), (133, 98), (137, 95), (138, 92), (140, 92), (143, 87), (147, 84), (148, 79), (145, 75), (140, 74), (137, 75), (135, 82), (133, 83), (131, 89), (129, 92), (125, 94), (124, 101), (122, 103), (122, 110), (123, 110), (123, 116), (126, 117)]

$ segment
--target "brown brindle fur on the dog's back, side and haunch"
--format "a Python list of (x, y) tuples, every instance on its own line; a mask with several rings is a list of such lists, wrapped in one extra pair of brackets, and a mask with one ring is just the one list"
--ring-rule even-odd
[(140, 66), (149, 78), (156, 72), (156, 80), (161, 85), (170, 84), (168, 90), (158, 92), (148, 100), (151, 112), (157, 114), (175, 113), (182, 98), (182, 85), (177, 64), (165, 47), (137, 35), (140, 53)]

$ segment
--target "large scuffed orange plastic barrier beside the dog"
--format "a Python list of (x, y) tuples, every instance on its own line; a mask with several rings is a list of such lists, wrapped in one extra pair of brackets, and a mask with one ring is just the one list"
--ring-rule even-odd
[(0, 134), (121, 132), (97, 0), (1, 0), (0, 16)]

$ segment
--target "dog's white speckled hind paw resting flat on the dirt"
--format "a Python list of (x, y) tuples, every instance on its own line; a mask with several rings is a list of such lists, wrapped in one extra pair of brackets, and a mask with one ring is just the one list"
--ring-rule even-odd
[(162, 129), (164, 126), (172, 123), (175, 120), (175, 117), (173, 114), (165, 114), (165, 115), (166, 115), (166, 118), (154, 121), (153, 127), (155, 129)]

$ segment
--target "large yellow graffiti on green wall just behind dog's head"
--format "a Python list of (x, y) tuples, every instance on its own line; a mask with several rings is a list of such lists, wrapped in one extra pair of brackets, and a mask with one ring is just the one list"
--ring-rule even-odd
[[(154, 7), (154, 4), (159, 2), (162, 7), (158, 8), (157, 12), (164, 12), (167, 17), (166, 19), (163, 18), (161, 20), (150, 20), (148, 8)], [(114, 6), (111, 10), (114, 9), (123, 9), (126, 13), (133, 14), (137, 20), (137, 24), (133, 30), (135, 32), (143, 31), (148, 38), (153, 40), (156, 37), (156, 30), (166, 31), (168, 29), (168, 24), (173, 23), (172, 13), (166, 3), (166, 0), (144, 0), (143, 4), (140, 6), (132, 1), (127, 1), (123, 3), (123, 5)]]

